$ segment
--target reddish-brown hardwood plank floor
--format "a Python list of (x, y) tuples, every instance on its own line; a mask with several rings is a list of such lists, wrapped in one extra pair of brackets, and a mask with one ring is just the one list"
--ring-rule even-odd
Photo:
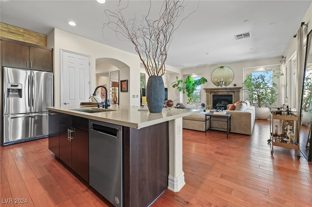
[[(292, 149), (274, 147), (271, 155), (269, 124), (256, 120), (252, 136), (229, 139), (183, 129), (186, 185), (166, 190), (152, 206), (312, 206), (312, 163)], [(1, 146), (0, 153), (1, 207), (112, 206), (54, 158), (47, 138)], [(28, 203), (14, 204), (22, 199)]]

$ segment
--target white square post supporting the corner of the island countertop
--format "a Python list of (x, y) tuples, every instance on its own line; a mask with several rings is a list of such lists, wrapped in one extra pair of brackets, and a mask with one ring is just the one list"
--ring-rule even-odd
[(178, 192), (185, 185), (182, 171), (182, 118), (169, 121), (168, 189)]

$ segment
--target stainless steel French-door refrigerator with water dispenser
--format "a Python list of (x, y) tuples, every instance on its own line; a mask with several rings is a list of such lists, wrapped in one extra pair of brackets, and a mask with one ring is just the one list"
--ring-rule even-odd
[(53, 73), (3, 67), (3, 145), (48, 136)]

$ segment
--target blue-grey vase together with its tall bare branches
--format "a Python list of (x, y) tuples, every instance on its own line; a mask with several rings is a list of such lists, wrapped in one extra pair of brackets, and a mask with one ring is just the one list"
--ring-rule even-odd
[[(164, 0), (157, 17), (152, 11), (152, 0), (149, 1), (150, 8), (140, 19), (136, 17), (126, 20), (123, 12), (127, 9), (129, 2), (123, 3), (119, 0), (116, 11), (104, 10), (108, 23), (105, 27), (116, 32), (117, 37), (128, 39), (133, 43), (135, 50), (149, 76), (146, 85), (146, 101), (150, 112), (160, 113), (165, 100), (164, 83), (162, 75), (165, 73), (165, 62), (168, 49), (173, 38), (173, 33), (181, 25), (186, 17), (184, 13), (184, 1)], [(148, 3), (148, 2), (146, 2)]]

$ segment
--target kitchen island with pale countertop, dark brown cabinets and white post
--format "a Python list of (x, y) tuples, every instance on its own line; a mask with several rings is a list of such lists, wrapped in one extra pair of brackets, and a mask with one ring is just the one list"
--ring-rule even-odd
[[(148, 206), (167, 188), (179, 191), (184, 186), (182, 117), (198, 113), (198, 110), (169, 111), (163, 108), (162, 113), (149, 113), (140, 111), (140, 107), (137, 106), (117, 104), (112, 105), (110, 109), (81, 106), (58, 106), (47, 109), (50, 111), (49, 130), (51, 128), (49, 149), (62, 161), (67, 159), (67, 162), (64, 162), (83, 179), (89, 182), (90, 178), (91, 186), (95, 161), (86, 156), (93, 155), (97, 145), (91, 144), (90, 123), (120, 127), (122, 196), (107, 198), (108, 196), (103, 195), (115, 206)], [(58, 118), (53, 115), (58, 115)], [(59, 130), (67, 128), (63, 132), (53, 131), (58, 129), (58, 123)], [(63, 159), (68, 149), (71, 149), (69, 153), (71, 157), (67, 155), (66, 159)], [(75, 166), (77, 170), (74, 169)], [(86, 168), (90, 169), (90, 174), (85, 172)], [(97, 187), (94, 188), (97, 190)]]

